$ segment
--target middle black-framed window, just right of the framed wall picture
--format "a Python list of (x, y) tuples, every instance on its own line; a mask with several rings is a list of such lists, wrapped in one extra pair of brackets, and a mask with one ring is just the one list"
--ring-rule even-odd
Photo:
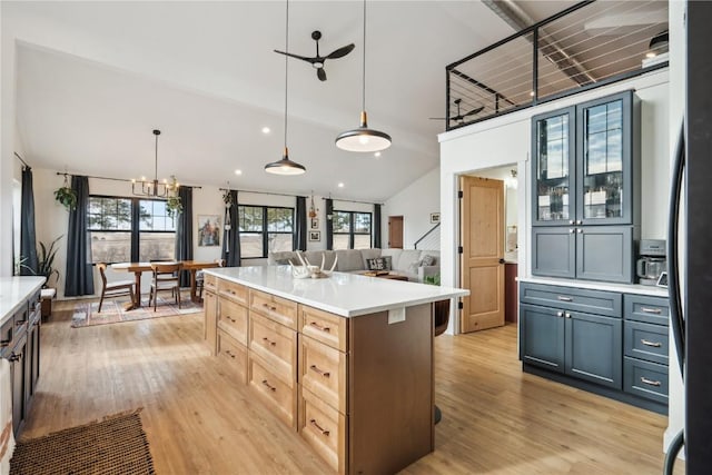
[(264, 258), (293, 250), (294, 208), (239, 205), (240, 258)]

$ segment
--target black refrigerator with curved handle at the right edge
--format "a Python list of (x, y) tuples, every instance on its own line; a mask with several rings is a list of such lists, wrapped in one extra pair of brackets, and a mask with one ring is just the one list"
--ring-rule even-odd
[[(712, 2), (689, 1), (686, 11), (685, 117), (679, 156), (685, 228), (680, 241), (680, 315), (671, 317), (684, 357), (685, 455), (688, 474), (712, 473)], [(674, 127), (674, 126), (673, 126)], [(680, 161), (680, 160), (679, 160)], [(673, 184), (674, 184), (673, 179)], [(673, 194), (674, 196), (674, 194)], [(674, 206), (673, 206), (674, 211)], [(671, 212), (674, 216), (674, 212)], [(670, 226), (674, 231), (674, 226)], [(673, 238), (674, 235), (669, 235)], [(670, 249), (672, 250), (672, 249)], [(671, 280), (675, 269), (670, 266)], [(681, 355), (682, 356), (682, 355)]]

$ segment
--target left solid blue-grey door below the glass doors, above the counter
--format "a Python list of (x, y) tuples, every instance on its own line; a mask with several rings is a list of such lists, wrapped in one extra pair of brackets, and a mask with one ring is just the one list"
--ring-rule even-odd
[(576, 237), (573, 227), (532, 228), (532, 274), (576, 277)]

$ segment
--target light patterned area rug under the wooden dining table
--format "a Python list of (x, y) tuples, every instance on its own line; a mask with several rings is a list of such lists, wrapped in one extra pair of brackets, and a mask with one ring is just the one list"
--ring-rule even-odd
[(178, 308), (178, 305), (176, 305), (172, 298), (164, 299), (159, 296), (156, 311), (154, 311), (152, 305), (148, 305), (148, 298), (141, 299), (141, 306), (134, 310), (125, 309), (128, 304), (128, 297), (126, 299), (103, 300), (101, 311), (98, 311), (98, 301), (77, 304), (75, 306), (75, 314), (71, 317), (71, 326), (80, 328), (92, 325), (145, 320), (147, 318), (170, 317), (202, 311), (202, 304), (195, 304), (188, 296), (181, 299), (180, 308)]

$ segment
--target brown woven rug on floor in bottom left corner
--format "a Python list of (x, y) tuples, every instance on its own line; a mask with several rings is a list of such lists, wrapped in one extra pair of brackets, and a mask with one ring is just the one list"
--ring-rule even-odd
[(139, 410), (18, 441), (10, 475), (155, 474)]

